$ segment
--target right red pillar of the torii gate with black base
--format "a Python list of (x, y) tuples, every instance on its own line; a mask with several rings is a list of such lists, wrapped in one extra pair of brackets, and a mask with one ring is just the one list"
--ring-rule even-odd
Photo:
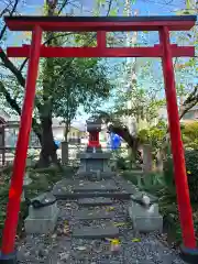
[(188, 180), (185, 165), (185, 154), (180, 133), (179, 111), (175, 87), (173, 57), (167, 26), (160, 30), (160, 41), (163, 47), (163, 73), (174, 160), (174, 174), (177, 193), (178, 212), (183, 233), (182, 256), (189, 263), (198, 263), (198, 250), (194, 230), (193, 211), (189, 197)]

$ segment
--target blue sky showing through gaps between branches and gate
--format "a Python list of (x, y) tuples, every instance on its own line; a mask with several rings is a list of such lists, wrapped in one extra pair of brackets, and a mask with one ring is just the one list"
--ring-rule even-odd
[[(0, 9), (6, 0), (0, 0)], [(121, 0), (120, 0), (121, 1)], [(122, 0), (124, 1), (124, 0)], [(69, 12), (72, 9), (75, 12), (75, 15), (92, 15), (91, 10), (94, 10), (94, 0), (70, 0), (72, 4), (68, 6), (66, 12)], [(44, 0), (26, 0), (26, 4), (21, 6), (19, 12), (21, 14), (28, 15), (40, 15), (42, 14)], [(134, 4), (131, 6), (132, 11), (138, 10), (139, 15), (170, 15), (175, 14), (177, 10), (185, 8), (185, 0), (136, 0)], [(106, 15), (107, 11), (102, 10), (100, 15)], [(118, 15), (122, 15), (123, 10), (120, 9)], [(7, 45), (21, 45), (22, 38), (24, 35), (22, 33), (12, 32), (8, 34)], [(141, 37), (141, 34), (139, 34)], [(158, 38), (155, 33), (150, 33), (146, 35), (151, 44), (157, 43)], [(121, 59), (111, 59), (111, 62), (121, 62)], [(139, 59), (143, 62), (143, 59)], [(157, 70), (157, 64), (154, 70)], [(158, 75), (161, 78), (161, 74)], [(146, 86), (146, 84), (145, 84)], [(111, 102), (107, 107), (110, 106)], [(84, 119), (88, 116), (84, 114)]]

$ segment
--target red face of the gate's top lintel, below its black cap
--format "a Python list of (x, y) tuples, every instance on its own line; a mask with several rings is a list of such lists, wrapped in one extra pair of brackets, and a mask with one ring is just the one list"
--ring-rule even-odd
[(142, 21), (142, 22), (44, 22), (44, 21), (12, 21), (6, 23), (12, 31), (32, 31), (40, 25), (43, 31), (54, 32), (97, 32), (97, 31), (158, 31), (167, 26), (169, 31), (186, 31), (195, 25), (195, 21)]

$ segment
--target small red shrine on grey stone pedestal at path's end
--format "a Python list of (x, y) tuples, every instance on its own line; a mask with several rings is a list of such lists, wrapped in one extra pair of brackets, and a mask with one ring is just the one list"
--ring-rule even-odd
[(79, 176), (87, 176), (94, 179), (108, 178), (114, 175), (108, 166), (111, 156), (108, 152), (102, 152), (99, 142), (99, 132), (101, 131), (101, 121), (97, 118), (87, 120), (87, 131), (89, 132), (89, 142), (85, 153), (79, 153), (80, 168)]

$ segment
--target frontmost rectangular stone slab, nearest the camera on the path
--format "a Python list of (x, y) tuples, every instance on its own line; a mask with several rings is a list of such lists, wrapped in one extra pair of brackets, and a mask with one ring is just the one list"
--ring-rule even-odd
[(119, 229), (116, 227), (82, 227), (73, 230), (73, 238), (76, 239), (106, 239), (118, 238)]

